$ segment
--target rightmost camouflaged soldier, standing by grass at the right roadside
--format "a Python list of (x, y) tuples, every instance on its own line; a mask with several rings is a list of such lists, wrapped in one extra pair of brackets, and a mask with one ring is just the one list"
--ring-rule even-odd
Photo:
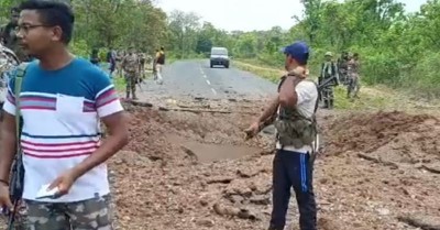
[(359, 54), (354, 53), (350, 55), (350, 61), (348, 63), (348, 76), (349, 85), (346, 87), (346, 98), (359, 98), (359, 91), (361, 90), (360, 81), (360, 62)]

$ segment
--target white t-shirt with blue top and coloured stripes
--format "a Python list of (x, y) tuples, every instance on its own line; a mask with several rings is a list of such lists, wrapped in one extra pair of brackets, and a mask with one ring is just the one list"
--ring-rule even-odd
[[(14, 78), (3, 109), (15, 114)], [(99, 118), (123, 108), (109, 77), (90, 62), (73, 59), (57, 70), (29, 64), (20, 94), (23, 116), (23, 198), (35, 200), (38, 189), (81, 163), (100, 145)], [(70, 202), (110, 193), (107, 166), (101, 164), (79, 177), (69, 193), (48, 202)]]

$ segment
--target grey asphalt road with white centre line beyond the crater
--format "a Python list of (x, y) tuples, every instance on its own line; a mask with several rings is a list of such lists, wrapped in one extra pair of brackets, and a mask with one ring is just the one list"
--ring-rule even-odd
[(276, 85), (233, 67), (209, 67), (209, 61), (177, 61), (165, 65), (163, 84), (152, 78), (142, 85), (143, 97), (250, 99), (267, 98), (276, 92)]

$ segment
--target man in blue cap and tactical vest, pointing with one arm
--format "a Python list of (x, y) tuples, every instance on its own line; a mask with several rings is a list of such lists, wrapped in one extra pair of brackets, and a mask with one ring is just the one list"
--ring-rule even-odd
[(270, 230), (283, 230), (290, 198), (290, 188), (296, 194), (301, 230), (317, 229), (317, 210), (312, 188), (312, 164), (317, 150), (317, 124), (315, 113), (318, 106), (318, 88), (307, 80), (309, 47), (296, 42), (283, 48), (285, 68), (278, 95), (245, 131), (256, 135), (262, 123), (275, 116), (277, 152), (273, 166), (273, 211)]

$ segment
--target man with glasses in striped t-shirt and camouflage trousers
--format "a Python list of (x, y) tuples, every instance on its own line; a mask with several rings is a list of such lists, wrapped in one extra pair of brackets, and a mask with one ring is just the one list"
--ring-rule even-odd
[[(11, 207), (15, 106), (23, 117), (24, 190), (30, 229), (111, 229), (105, 162), (128, 143), (123, 108), (106, 73), (67, 50), (74, 15), (56, 1), (21, 4), (18, 35), (37, 61), (28, 65), (20, 98), (11, 79), (0, 154), (0, 205)], [(109, 136), (100, 142), (99, 119)], [(50, 185), (62, 196), (38, 199)]]

